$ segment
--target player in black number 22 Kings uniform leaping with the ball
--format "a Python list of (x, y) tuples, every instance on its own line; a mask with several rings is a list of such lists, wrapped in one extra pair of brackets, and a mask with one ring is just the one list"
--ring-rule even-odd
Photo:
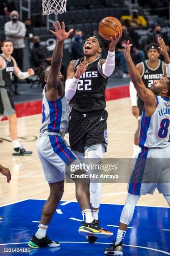
[[(88, 158), (98, 162), (107, 149), (107, 111), (105, 110), (105, 89), (108, 77), (115, 68), (115, 45), (119, 36), (110, 38), (107, 59), (99, 54), (103, 48), (100, 35), (91, 36), (83, 46), (84, 57), (71, 61), (67, 70), (65, 95), (72, 107), (69, 115), (69, 141), (72, 150), (79, 159)], [(90, 200), (92, 217), (98, 223), (98, 211), (102, 192), (101, 183), (90, 182)], [(87, 237), (89, 243), (97, 238)]]

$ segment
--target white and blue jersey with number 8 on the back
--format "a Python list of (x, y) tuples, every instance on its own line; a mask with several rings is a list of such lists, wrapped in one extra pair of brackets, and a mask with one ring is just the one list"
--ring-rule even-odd
[(140, 122), (139, 146), (141, 148), (165, 148), (169, 146), (170, 135), (170, 99), (156, 96), (157, 108), (151, 117), (145, 116)]

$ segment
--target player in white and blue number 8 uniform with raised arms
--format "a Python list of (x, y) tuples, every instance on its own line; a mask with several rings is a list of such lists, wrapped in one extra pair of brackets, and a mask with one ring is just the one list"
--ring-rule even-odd
[[(155, 80), (150, 89), (146, 88), (130, 56), (131, 46), (128, 41), (125, 59), (135, 89), (144, 101), (144, 109), (139, 128), (141, 153), (130, 177), (128, 196), (120, 216), (117, 237), (114, 243), (104, 250), (105, 254), (117, 256), (123, 254), (122, 242), (141, 195), (153, 195), (157, 188), (170, 206), (170, 77)], [(160, 45), (160, 52), (163, 51), (162, 48)], [(170, 75), (170, 58), (165, 59), (165, 63), (168, 66), (167, 74), (169, 68)]]

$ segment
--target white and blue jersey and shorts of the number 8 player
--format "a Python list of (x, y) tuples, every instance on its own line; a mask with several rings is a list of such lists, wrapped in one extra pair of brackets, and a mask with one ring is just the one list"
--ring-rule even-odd
[(140, 122), (138, 155), (128, 184), (128, 193), (153, 194), (155, 188), (170, 195), (170, 99), (156, 96), (157, 108)]

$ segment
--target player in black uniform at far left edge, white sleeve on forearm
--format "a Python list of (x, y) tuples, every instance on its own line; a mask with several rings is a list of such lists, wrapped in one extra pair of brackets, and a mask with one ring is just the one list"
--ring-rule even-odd
[(21, 72), (15, 59), (11, 56), (13, 53), (13, 42), (6, 40), (1, 45), (2, 54), (0, 54), (0, 120), (7, 116), (9, 120), (9, 132), (13, 141), (13, 156), (28, 156), (32, 151), (26, 151), (21, 147), (18, 141), (17, 117), (11, 91), (12, 74), (14, 73), (20, 79), (25, 79), (34, 74), (33, 69), (28, 72)]

